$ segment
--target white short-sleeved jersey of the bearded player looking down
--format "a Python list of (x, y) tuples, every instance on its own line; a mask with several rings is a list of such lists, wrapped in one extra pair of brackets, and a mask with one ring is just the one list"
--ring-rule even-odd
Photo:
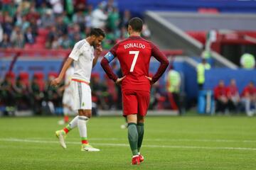
[(74, 60), (75, 72), (72, 79), (80, 79), (90, 83), (92, 73), (92, 62), (95, 58), (94, 48), (85, 39), (75, 43), (69, 55)]

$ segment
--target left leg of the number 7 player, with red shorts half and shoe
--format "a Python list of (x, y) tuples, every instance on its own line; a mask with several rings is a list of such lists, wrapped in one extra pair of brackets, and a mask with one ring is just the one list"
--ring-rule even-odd
[(139, 164), (138, 131), (137, 131), (137, 97), (133, 91), (122, 92), (123, 113), (127, 117), (128, 140), (132, 150), (132, 164)]

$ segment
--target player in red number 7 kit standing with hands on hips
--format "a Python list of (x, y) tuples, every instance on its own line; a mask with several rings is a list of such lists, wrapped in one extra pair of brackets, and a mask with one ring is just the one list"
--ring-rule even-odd
[[(144, 118), (149, 107), (151, 84), (161, 77), (169, 64), (158, 47), (140, 37), (142, 26), (142, 19), (132, 18), (128, 25), (129, 38), (114, 45), (101, 61), (107, 76), (122, 87), (123, 115), (127, 117), (132, 164), (140, 164), (144, 160), (139, 151), (142, 147)], [(161, 63), (153, 77), (149, 77), (151, 56)], [(110, 67), (109, 63), (115, 57), (119, 60), (124, 77), (117, 77)]]

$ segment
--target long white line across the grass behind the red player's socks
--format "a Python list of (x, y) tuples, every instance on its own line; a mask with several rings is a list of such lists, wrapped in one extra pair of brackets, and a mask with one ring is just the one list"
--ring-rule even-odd
[[(32, 143), (58, 143), (58, 141), (52, 140), (22, 140), (16, 138), (0, 138), (0, 141), (6, 142), (32, 142)], [(78, 145), (80, 142), (67, 142), (67, 144)], [(127, 144), (113, 144), (113, 143), (94, 143), (95, 145), (101, 146), (112, 146), (112, 147), (128, 147)], [(143, 147), (153, 147), (153, 148), (181, 148), (181, 149), (218, 149), (218, 150), (250, 150), (256, 151), (256, 148), (251, 147), (198, 147), (198, 146), (175, 146), (175, 145), (143, 145)]]

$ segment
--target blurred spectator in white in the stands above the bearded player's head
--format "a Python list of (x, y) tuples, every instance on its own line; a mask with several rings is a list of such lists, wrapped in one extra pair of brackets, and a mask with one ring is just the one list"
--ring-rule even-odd
[(92, 27), (105, 28), (107, 21), (107, 14), (104, 11), (104, 4), (100, 3), (97, 8), (92, 11)]

